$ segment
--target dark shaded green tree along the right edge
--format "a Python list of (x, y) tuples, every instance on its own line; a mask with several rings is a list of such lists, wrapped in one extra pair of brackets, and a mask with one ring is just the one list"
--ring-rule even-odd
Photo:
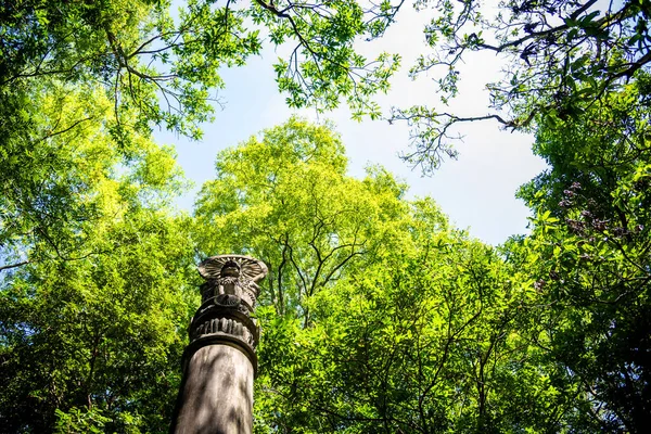
[(521, 195), (537, 213), (529, 272), (550, 357), (592, 405), (595, 429), (644, 432), (651, 409), (649, 76), (541, 128), (551, 168)]

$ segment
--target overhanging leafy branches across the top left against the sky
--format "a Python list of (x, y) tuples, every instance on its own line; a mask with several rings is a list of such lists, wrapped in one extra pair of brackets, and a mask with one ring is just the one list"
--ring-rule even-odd
[(369, 61), (353, 50), (356, 37), (376, 37), (391, 23), (388, 2), (190, 0), (175, 12), (169, 0), (25, 0), (0, 8), (0, 88), (40, 77), (97, 84), (116, 115), (138, 112), (122, 135), (153, 123), (197, 137), (210, 94), (225, 85), (219, 68), (244, 64), (264, 41), (295, 41), (275, 66), (293, 106), (329, 108), (344, 98), (361, 113), (376, 112), (368, 97), (386, 88), (398, 59)]

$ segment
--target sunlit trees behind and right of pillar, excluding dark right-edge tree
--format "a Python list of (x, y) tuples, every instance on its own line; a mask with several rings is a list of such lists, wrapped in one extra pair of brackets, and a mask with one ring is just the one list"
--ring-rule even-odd
[(327, 126), (293, 118), (221, 152), (197, 202), (203, 255), (269, 265), (256, 432), (569, 426), (574, 385), (545, 358), (526, 270), (345, 163)]

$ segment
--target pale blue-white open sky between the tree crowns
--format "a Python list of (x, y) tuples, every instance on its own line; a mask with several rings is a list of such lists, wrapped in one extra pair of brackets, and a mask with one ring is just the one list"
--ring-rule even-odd
[[(391, 91), (380, 95), (378, 101), (386, 112), (392, 105), (439, 106), (433, 77), (416, 81), (407, 77), (416, 56), (427, 50), (422, 36), (427, 15), (410, 9), (400, 12), (404, 13), (398, 16), (399, 21), (382, 40), (359, 43), (359, 50), (368, 58), (381, 51), (398, 52), (403, 56), (403, 68), (392, 81)], [(457, 145), (458, 161), (446, 161), (433, 177), (423, 178), (418, 168), (412, 170), (398, 157), (398, 153), (409, 146), (407, 125), (369, 119), (357, 123), (350, 119), (345, 107), (321, 116), (311, 110), (288, 108), (284, 95), (277, 90), (271, 67), (285, 49), (290, 47), (278, 51), (266, 49), (246, 66), (222, 72), (226, 89), (218, 92), (218, 98), (224, 107), (217, 108), (214, 123), (204, 125), (202, 141), (190, 142), (165, 131), (155, 133), (159, 142), (176, 145), (186, 176), (195, 183), (195, 189), (183, 195), (179, 206), (192, 209), (197, 189), (215, 176), (218, 151), (298, 114), (312, 120), (328, 118), (336, 124), (346, 145), (350, 175), (361, 177), (366, 165), (381, 164), (408, 182), (411, 196), (434, 197), (454, 225), (494, 245), (511, 234), (526, 232), (529, 212), (514, 193), (519, 186), (546, 167), (531, 152), (532, 136), (502, 131), (493, 122), (463, 124), (458, 129), (464, 136), (464, 141)], [(469, 56), (461, 68), (460, 97), (450, 110), (460, 115), (488, 113), (485, 84), (499, 77), (499, 62), (489, 53)]]

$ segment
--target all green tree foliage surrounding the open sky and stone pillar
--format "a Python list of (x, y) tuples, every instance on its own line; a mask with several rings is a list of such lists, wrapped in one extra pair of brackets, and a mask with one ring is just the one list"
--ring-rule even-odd
[(164, 432), (199, 303), (195, 264), (269, 267), (256, 433), (643, 433), (651, 413), (644, 1), (414, 1), (458, 89), (503, 54), (487, 114), (417, 106), (425, 171), (455, 124), (535, 133), (531, 233), (493, 247), (379, 166), (347, 171), (329, 123), (292, 117), (216, 157), (192, 215), (152, 128), (193, 138), (220, 67), (264, 43), (293, 107), (380, 116), (398, 55), (367, 60), (404, 1), (0, 4), (0, 432)]

